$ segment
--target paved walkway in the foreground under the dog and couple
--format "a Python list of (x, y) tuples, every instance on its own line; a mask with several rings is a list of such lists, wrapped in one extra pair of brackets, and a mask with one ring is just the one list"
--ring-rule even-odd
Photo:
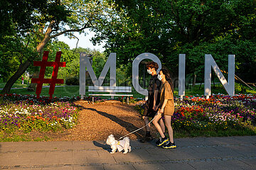
[(0, 142), (0, 169), (256, 169), (256, 136), (176, 139), (176, 149), (131, 141), (110, 154), (102, 141)]

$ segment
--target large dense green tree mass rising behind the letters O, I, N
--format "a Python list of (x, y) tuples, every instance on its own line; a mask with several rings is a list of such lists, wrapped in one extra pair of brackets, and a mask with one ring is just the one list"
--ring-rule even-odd
[[(236, 55), (236, 64), (246, 61), (251, 68), (256, 64), (251, 50), (256, 40), (255, 0), (114, 2), (119, 17), (112, 25), (102, 27), (94, 40), (105, 39), (107, 50), (118, 52), (122, 63), (132, 62), (142, 52), (152, 52), (177, 75), (178, 54), (186, 53), (187, 74), (198, 74), (208, 52), (220, 68), (227, 65), (229, 54)], [(245, 71), (238, 65), (237, 69), (239, 74)], [(252, 74), (252, 69), (246, 73)]]

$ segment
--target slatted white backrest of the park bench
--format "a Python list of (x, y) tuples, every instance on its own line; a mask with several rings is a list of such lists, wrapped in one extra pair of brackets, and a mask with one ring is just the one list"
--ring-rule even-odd
[(132, 86), (89, 86), (91, 92), (132, 92)]

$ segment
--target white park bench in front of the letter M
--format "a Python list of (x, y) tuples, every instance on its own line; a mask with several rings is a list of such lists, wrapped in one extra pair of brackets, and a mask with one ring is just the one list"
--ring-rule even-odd
[(92, 104), (94, 103), (94, 96), (126, 96), (127, 104), (129, 104), (129, 97), (132, 94), (112, 94), (112, 93), (132, 93), (131, 86), (89, 86), (89, 92), (107, 92), (110, 94), (89, 94), (92, 96)]

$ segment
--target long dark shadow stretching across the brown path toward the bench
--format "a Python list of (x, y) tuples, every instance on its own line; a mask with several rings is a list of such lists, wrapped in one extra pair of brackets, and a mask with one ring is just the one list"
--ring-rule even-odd
[[(132, 123), (128, 123), (128, 122), (126, 122), (126, 121), (124, 121), (124, 120), (121, 120), (121, 119), (119, 119), (119, 118), (117, 118), (117, 116), (115, 116), (115, 115), (110, 115), (109, 113), (106, 113), (106, 112), (102, 112), (102, 111), (97, 111), (95, 108), (84, 108), (83, 107), (83, 109), (85, 109), (85, 110), (90, 110), (90, 111), (95, 111), (95, 112), (97, 112), (98, 114), (100, 114), (100, 115), (103, 115), (103, 116), (105, 116), (106, 118), (109, 118), (110, 120), (112, 120), (112, 121), (114, 121), (115, 123), (118, 123), (119, 125), (121, 125), (122, 127), (124, 127), (128, 132), (132, 132), (132, 131), (134, 131), (134, 130), (137, 130), (137, 129), (139, 129), (139, 128), (141, 128), (141, 127), (136, 127), (135, 125), (133, 125)], [(140, 137), (142, 137), (143, 136), (143, 132), (142, 132), (143, 130), (139, 130), (139, 131), (137, 131), (137, 132), (134, 132), (134, 135), (136, 135), (137, 136), (137, 138), (140, 138)], [(120, 133), (122, 132), (122, 130), (120, 130)], [(113, 135), (119, 135), (119, 137), (121, 137), (121, 134), (113, 134)], [(125, 134), (125, 135), (127, 135), (127, 134)]]

